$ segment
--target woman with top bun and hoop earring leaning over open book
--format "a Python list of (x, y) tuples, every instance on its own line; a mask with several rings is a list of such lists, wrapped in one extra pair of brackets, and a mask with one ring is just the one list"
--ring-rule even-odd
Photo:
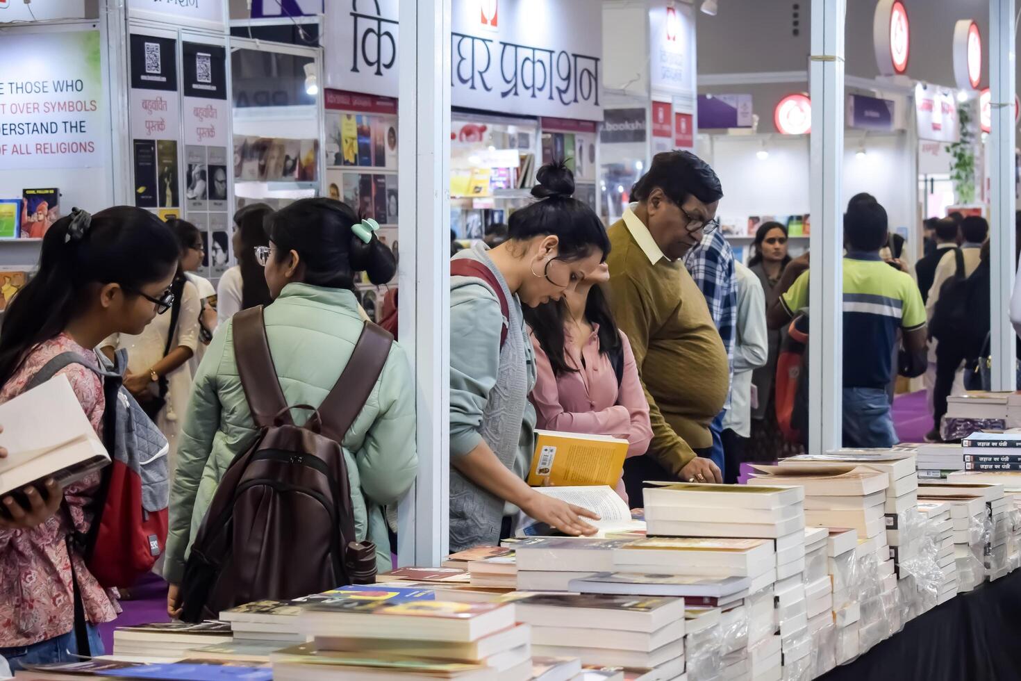
[(512, 213), (507, 241), (492, 249), (477, 243), (451, 261), (451, 552), (497, 545), (513, 533), (519, 508), (565, 534), (595, 532), (583, 520), (594, 514), (525, 482), (536, 362), (522, 305), (576, 290), (605, 259), (610, 238), (598, 215), (572, 198), (574, 176), (563, 163), (543, 165), (536, 177), (539, 200)]

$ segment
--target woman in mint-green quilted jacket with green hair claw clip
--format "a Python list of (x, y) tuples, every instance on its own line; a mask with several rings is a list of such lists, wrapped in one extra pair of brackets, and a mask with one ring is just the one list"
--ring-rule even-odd
[[(273, 298), (263, 321), (287, 404), (319, 406), (347, 366), (364, 326), (354, 297), (355, 273), (367, 273), (374, 284), (393, 278), (397, 263), (376, 228), (328, 198), (301, 199), (273, 214), (270, 244), (255, 255)], [(178, 449), (163, 570), (172, 615), (181, 605), (185, 555), (221, 478), (258, 435), (238, 376), (233, 322), (225, 325), (195, 376)], [(358, 541), (368, 536), (382, 547), (381, 572), (391, 569), (382, 507), (404, 495), (418, 469), (412, 385), (404, 350), (394, 343), (372, 397), (342, 442), (355, 534)], [(292, 416), (301, 425), (307, 412), (296, 409)]]

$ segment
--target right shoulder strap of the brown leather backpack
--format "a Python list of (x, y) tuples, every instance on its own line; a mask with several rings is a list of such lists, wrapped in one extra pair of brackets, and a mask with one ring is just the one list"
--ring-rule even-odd
[(319, 408), (323, 434), (331, 440), (341, 442), (366, 405), (391, 345), (393, 336), (372, 322), (366, 323), (351, 358)]

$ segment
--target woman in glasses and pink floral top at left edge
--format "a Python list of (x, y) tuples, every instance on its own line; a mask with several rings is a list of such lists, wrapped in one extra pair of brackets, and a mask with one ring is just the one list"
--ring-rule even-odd
[[(50, 359), (74, 352), (99, 369), (95, 349), (115, 333), (140, 334), (173, 303), (178, 267), (174, 233), (152, 213), (117, 206), (95, 215), (75, 208), (43, 238), (39, 272), (8, 305), (0, 333), (0, 402), (21, 393)], [(103, 382), (82, 364), (57, 372), (101, 434)], [(0, 451), (0, 456), (6, 452)], [(20, 500), (0, 499), (0, 656), (16, 671), (31, 664), (70, 662), (76, 582), (85, 607), (92, 654), (102, 654), (96, 625), (116, 617), (112, 592), (69, 548), (86, 534), (100, 476), (61, 489), (27, 488)]]

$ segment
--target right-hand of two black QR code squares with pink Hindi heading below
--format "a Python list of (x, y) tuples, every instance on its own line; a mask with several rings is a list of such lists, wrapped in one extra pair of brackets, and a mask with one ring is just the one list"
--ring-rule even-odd
[(226, 147), (231, 108), (227, 101), (227, 50), (183, 42), (185, 143)]

